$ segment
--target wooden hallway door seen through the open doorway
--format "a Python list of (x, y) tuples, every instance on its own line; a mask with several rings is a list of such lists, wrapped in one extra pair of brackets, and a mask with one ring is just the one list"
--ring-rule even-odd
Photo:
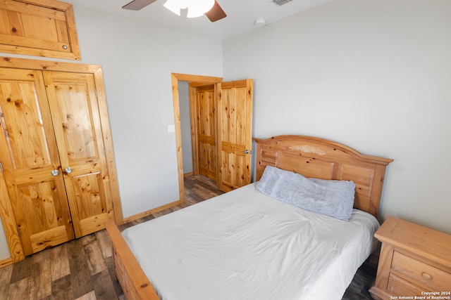
[(195, 93), (199, 174), (216, 181), (216, 103), (214, 85), (198, 86)]

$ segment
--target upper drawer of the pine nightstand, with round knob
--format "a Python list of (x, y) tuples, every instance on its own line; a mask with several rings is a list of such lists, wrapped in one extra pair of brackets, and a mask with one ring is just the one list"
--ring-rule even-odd
[(451, 286), (450, 273), (412, 259), (400, 252), (393, 253), (392, 269), (412, 279), (412, 282), (421, 282), (433, 290), (445, 291)]

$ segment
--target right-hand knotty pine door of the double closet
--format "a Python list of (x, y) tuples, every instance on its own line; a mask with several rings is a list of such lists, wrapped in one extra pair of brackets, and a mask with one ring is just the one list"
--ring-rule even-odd
[(81, 237), (113, 219), (94, 75), (43, 73), (73, 228)]

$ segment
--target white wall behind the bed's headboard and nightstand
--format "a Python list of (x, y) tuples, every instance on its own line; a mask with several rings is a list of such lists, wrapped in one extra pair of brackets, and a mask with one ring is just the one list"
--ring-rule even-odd
[(395, 159), (381, 221), (451, 233), (451, 1), (334, 0), (225, 41), (223, 70), (254, 78), (254, 136)]

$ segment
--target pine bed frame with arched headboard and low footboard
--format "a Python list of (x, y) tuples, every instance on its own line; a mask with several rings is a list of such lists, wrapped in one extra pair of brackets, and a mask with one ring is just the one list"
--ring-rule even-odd
[[(393, 159), (362, 155), (346, 145), (309, 136), (275, 136), (254, 141), (257, 181), (266, 166), (306, 177), (352, 180), (356, 185), (354, 207), (377, 217), (385, 167)], [(111, 237), (116, 277), (127, 299), (159, 299), (116, 224), (108, 221), (105, 227)]]

